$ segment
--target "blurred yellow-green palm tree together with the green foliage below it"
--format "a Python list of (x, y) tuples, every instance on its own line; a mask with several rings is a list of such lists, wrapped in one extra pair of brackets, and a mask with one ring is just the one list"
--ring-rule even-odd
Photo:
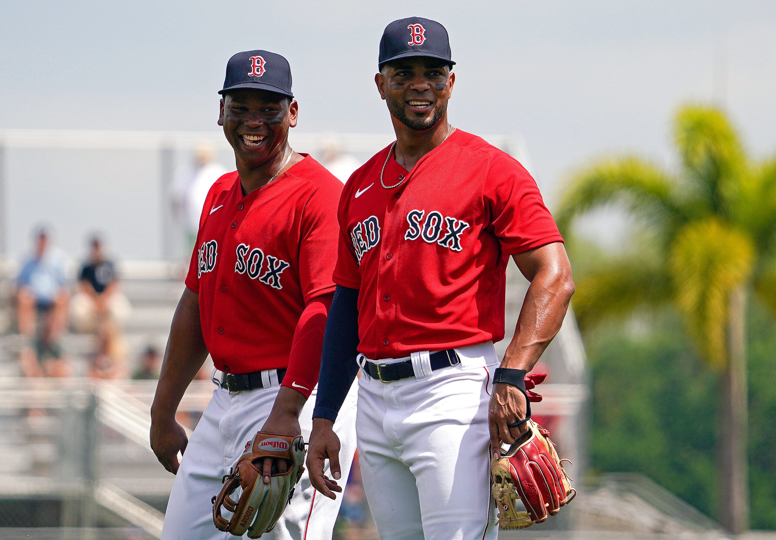
[[(592, 466), (644, 473), (729, 531), (776, 528), (776, 160), (747, 156), (718, 108), (684, 105), (672, 128), (676, 170), (594, 160), (556, 212), (592, 371)], [(628, 249), (576, 234), (601, 208), (632, 218)], [(750, 518), (731, 495), (747, 463)]]

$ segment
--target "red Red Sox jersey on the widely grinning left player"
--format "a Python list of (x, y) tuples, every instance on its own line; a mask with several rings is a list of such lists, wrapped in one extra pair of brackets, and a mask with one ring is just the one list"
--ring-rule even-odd
[(341, 190), (310, 156), (247, 196), (237, 171), (210, 188), (185, 284), (219, 370), (288, 366), (305, 305), (334, 290)]

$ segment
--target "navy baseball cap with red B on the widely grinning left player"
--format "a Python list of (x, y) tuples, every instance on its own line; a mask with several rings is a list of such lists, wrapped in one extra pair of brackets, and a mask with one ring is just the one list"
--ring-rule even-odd
[(235, 54), (227, 63), (227, 77), (218, 93), (223, 95), (240, 88), (268, 90), (293, 98), (289, 61), (268, 50)]

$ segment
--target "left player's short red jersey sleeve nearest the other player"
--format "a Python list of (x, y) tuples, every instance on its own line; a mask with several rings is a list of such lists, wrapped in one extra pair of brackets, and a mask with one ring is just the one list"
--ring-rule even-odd
[(337, 249), (337, 201), (342, 184), (321, 182), (304, 207), (300, 230), (299, 279), (305, 303), (334, 291)]

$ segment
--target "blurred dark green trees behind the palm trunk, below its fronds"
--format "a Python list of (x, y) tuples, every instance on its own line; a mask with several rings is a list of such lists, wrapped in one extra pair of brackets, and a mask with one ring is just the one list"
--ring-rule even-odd
[[(754, 529), (776, 529), (776, 323), (750, 304), (749, 473)], [(594, 473), (638, 472), (715, 517), (719, 375), (669, 308), (584, 332)]]

